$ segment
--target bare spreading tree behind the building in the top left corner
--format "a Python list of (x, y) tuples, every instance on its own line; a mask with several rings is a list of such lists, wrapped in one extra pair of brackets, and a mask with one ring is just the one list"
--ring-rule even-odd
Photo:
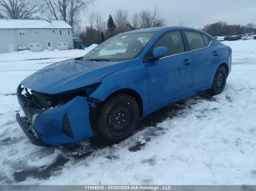
[(38, 19), (41, 7), (38, 0), (0, 0), (0, 18)]

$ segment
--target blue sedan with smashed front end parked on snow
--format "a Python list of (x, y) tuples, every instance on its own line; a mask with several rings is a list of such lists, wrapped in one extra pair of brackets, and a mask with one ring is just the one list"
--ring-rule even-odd
[(25, 78), (17, 88), (25, 117), (17, 113), (16, 119), (35, 145), (68, 145), (94, 135), (117, 143), (156, 110), (201, 91), (220, 94), (231, 54), (229, 46), (188, 27), (121, 33), (83, 57)]

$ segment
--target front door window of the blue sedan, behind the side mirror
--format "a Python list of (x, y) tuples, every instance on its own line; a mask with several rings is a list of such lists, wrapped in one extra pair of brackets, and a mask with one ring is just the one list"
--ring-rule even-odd
[(170, 32), (160, 37), (160, 39), (153, 48), (158, 46), (164, 46), (167, 48), (167, 54), (165, 56), (171, 56), (174, 54), (185, 52), (184, 43), (180, 31)]

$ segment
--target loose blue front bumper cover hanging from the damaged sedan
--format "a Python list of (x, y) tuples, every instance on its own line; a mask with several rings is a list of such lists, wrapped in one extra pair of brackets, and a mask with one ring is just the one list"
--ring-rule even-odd
[[(36, 117), (33, 127), (19, 114), (16, 120), (35, 145), (70, 145), (93, 136), (89, 106), (87, 97), (77, 96), (61, 107), (44, 110)], [(34, 131), (38, 138), (33, 135)]]

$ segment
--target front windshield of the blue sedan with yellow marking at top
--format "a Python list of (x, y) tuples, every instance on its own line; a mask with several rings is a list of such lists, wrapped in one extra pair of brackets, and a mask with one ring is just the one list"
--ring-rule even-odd
[(154, 35), (150, 32), (114, 36), (95, 47), (82, 60), (113, 62), (136, 58)]

